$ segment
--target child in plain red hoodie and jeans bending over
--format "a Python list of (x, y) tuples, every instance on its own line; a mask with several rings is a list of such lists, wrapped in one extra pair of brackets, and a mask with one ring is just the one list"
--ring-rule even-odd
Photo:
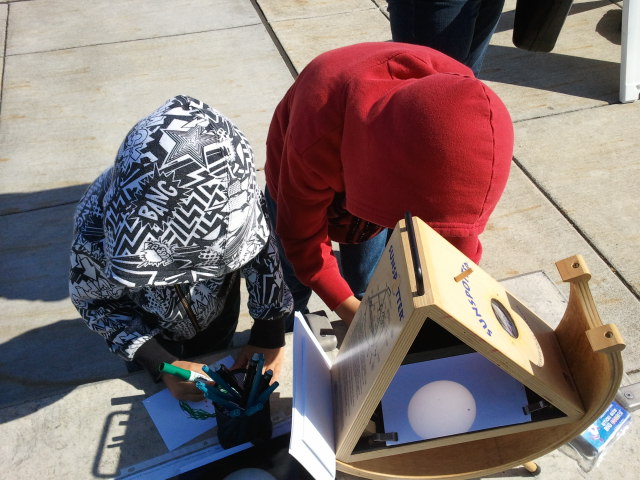
[[(332, 50), (300, 73), (274, 113), (271, 221), (295, 277), (349, 324), (384, 232), (406, 211), (480, 260), (478, 235), (512, 151), (506, 107), (456, 60), (391, 42)], [(302, 310), (308, 288), (285, 278)]]

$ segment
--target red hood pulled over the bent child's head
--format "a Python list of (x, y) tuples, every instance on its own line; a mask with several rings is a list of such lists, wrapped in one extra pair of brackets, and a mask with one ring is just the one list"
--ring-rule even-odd
[(390, 228), (410, 211), (478, 261), (509, 176), (509, 112), (464, 65), (385, 48), (397, 50), (366, 75), (354, 66), (345, 92), (346, 209)]

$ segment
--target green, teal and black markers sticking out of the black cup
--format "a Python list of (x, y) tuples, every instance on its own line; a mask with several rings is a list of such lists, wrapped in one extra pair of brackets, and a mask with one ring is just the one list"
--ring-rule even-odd
[[(205, 397), (218, 406), (224, 407), (230, 416), (250, 416), (263, 409), (269, 395), (278, 386), (278, 382), (269, 385), (273, 371), (267, 370), (262, 374), (263, 365), (264, 355), (254, 353), (247, 365), (242, 385), (236, 380), (233, 372), (222, 364), (218, 364), (215, 370), (206, 365), (202, 367), (202, 370), (210, 378), (168, 363), (161, 363), (159, 368), (163, 373), (174, 375), (185, 381), (195, 382), (196, 387), (205, 394)], [(204, 383), (211, 382), (211, 380), (215, 382), (214, 385)]]

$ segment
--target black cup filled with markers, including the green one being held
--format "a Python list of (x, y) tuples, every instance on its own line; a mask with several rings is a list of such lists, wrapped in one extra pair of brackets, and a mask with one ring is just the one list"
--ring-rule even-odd
[(263, 366), (264, 355), (254, 353), (246, 369), (229, 370), (221, 363), (214, 368), (205, 365), (202, 370), (209, 378), (183, 369), (179, 370), (188, 373), (176, 375), (173, 370), (176, 367), (169, 364), (162, 364), (160, 370), (195, 382), (214, 405), (220, 445), (230, 448), (246, 442), (255, 445), (271, 438), (269, 397), (278, 382), (271, 383), (273, 372), (262, 373)]

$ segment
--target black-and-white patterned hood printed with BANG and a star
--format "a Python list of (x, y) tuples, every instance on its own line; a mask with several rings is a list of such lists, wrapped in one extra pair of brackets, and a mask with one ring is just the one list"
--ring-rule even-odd
[(105, 272), (118, 283), (219, 277), (266, 245), (251, 146), (195, 98), (176, 96), (139, 121), (106, 175)]

